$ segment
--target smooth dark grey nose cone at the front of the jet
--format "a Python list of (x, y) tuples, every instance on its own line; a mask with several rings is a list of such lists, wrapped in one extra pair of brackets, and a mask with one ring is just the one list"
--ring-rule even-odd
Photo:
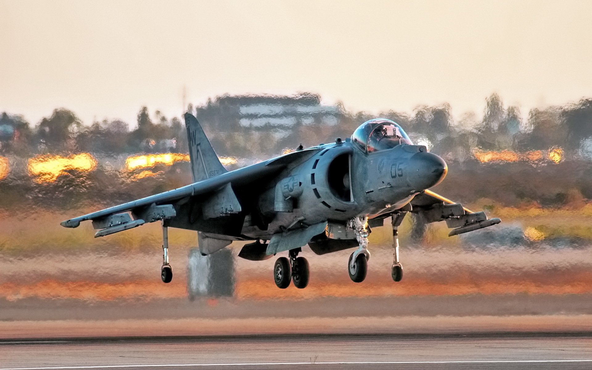
[(415, 191), (423, 191), (439, 184), (448, 173), (446, 162), (429, 152), (415, 153), (409, 159), (407, 168), (407, 182)]

